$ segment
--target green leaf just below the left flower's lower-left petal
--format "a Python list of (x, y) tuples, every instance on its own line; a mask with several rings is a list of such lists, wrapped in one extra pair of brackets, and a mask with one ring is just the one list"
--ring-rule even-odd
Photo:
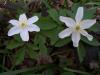
[(8, 42), (8, 44), (7, 44), (7, 49), (15, 49), (15, 48), (17, 48), (17, 47), (20, 47), (20, 46), (22, 46), (24, 43), (23, 42), (21, 42), (21, 41), (17, 41), (17, 40), (10, 40), (9, 42)]

